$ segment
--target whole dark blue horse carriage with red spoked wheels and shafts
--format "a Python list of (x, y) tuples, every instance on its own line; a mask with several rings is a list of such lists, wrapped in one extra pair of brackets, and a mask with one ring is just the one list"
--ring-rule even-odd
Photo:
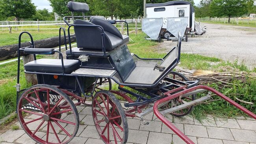
[[(126, 117), (137, 117), (145, 126), (143, 117), (151, 112), (187, 144), (193, 142), (163, 115), (184, 116), (193, 105), (210, 96), (196, 99), (195, 94), (213, 92), (256, 119), (256, 115), (227, 98), (220, 92), (198, 85), (199, 80), (188, 79), (173, 69), (180, 62), (181, 40), (162, 59), (145, 59), (131, 54), (128, 35), (122, 35), (113, 23), (102, 17), (85, 20), (89, 11), (85, 3), (69, 2), (72, 17), (64, 17), (74, 28), (77, 47), (67, 49), (67, 59), (53, 48), (35, 48), (32, 35), (19, 36), (17, 114), (24, 131), (40, 144), (67, 144), (78, 133), (80, 125), (78, 105), (91, 107), (93, 121), (104, 143), (125, 144), (128, 139)], [(82, 12), (76, 17), (73, 12)], [(66, 18), (72, 18), (69, 24)], [(80, 18), (83, 18), (80, 19)], [(65, 29), (60, 28), (60, 31)], [(31, 46), (21, 48), (21, 37), (28, 34)], [(127, 33), (128, 34), (128, 33)], [(60, 35), (61, 36), (61, 35)], [(65, 39), (66, 40), (66, 39)], [(20, 54), (32, 54), (34, 61), (24, 65), (26, 74), (36, 74), (38, 85), (20, 90)], [(36, 55), (59, 54), (59, 59), (36, 59)], [(112, 90), (112, 82), (118, 90)], [(107, 89), (107, 90), (103, 90)], [(91, 99), (91, 100), (88, 100)], [(122, 105), (119, 99), (125, 100)], [(123, 107), (126, 107), (124, 109)], [(160, 111), (160, 108), (163, 111)], [(77, 142), (79, 143), (79, 142)]]

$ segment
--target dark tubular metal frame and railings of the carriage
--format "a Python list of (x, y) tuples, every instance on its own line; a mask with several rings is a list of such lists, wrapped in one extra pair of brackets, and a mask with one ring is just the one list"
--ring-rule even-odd
[[(68, 39), (69, 39), (69, 46), (71, 47), (71, 42), (70, 42), (70, 28), (72, 26), (82, 26), (82, 27), (93, 27), (93, 28), (100, 28), (102, 30), (102, 33), (101, 33), (101, 36), (102, 36), (102, 51), (104, 52), (104, 56), (106, 57), (106, 48), (105, 48), (105, 43), (104, 43), (104, 39), (105, 39), (105, 34), (104, 34), (104, 29), (101, 27), (101, 26), (98, 26), (98, 25), (70, 25), (69, 28), (68, 28)], [(63, 33), (65, 35), (65, 29), (64, 28), (60, 28), (59, 29), (59, 35), (61, 35), (61, 30), (63, 30)], [(30, 36), (30, 39), (31, 39), (31, 44), (32, 46), (28, 46), (28, 47), (25, 47), (25, 48), (34, 48), (34, 43), (33, 43), (33, 38), (32, 38), (32, 35), (28, 32), (22, 32), (20, 33), (20, 36), (19, 36), (19, 49), (18, 49), (18, 74), (17, 74), (17, 87), (19, 87), (19, 76), (20, 76), (20, 52), (21, 51), (24, 51), (25, 48), (20, 48), (21, 47), (21, 44), (20, 44), (20, 41), (21, 41), (21, 36), (22, 34), (24, 33), (27, 33), (29, 36)], [(64, 37), (65, 38), (65, 37)], [(181, 37), (179, 37), (179, 39), (181, 39)], [(66, 39), (65, 39), (66, 40)], [(59, 42), (61, 43), (61, 39), (59, 39)], [(132, 106), (139, 106), (139, 105), (145, 105), (147, 103), (151, 103), (151, 102), (154, 102), (156, 100), (159, 100), (161, 98), (163, 98), (162, 96), (160, 95), (157, 95), (156, 92), (158, 91), (161, 91), (161, 92), (167, 92), (169, 91), (168, 88), (170, 87), (181, 87), (180, 85), (186, 85), (187, 88), (190, 88), (190, 87), (193, 87), (195, 85), (198, 84), (199, 80), (197, 81), (178, 81), (176, 79), (171, 79), (171, 78), (167, 78), (166, 76), (171, 72), (171, 70), (173, 70), (173, 68), (179, 63), (180, 61), (180, 46), (181, 46), (181, 40), (178, 41), (178, 57), (176, 58), (176, 60), (170, 65), (169, 69), (166, 70), (166, 72), (164, 74), (162, 74), (160, 76), (160, 78), (158, 78), (157, 81), (155, 81), (153, 84), (151, 85), (148, 85), (148, 84), (132, 84), (132, 83), (121, 83), (119, 81), (117, 81), (115, 78), (113, 78), (113, 75), (115, 73), (113, 73), (111, 76), (104, 76), (104, 78), (111, 78), (113, 79), (116, 83), (118, 83), (119, 85), (123, 85), (123, 86), (126, 86), (126, 87), (130, 87), (131, 89), (134, 89), (135, 91), (137, 92), (141, 92), (143, 94), (146, 94), (147, 96), (150, 96), (150, 98), (145, 98), (145, 96), (142, 96), (140, 94), (137, 94), (135, 92), (132, 92), (128, 89), (125, 89), (123, 87), (120, 87), (119, 86), (119, 90), (123, 91), (123, 92), (126, 92), (128, 94), (131, 94), (132, 96), (135, 96), (137, 99), (135, 102), (132, 102), (132, 103), (125, 103), (124, 105), (126, 107), (132, 107)], [(66, 41), (65, 41), (65, 44)], [(59, 44), (60, 45), (60, 44)], [(60, 48), (60, 46), (59, 46)], [(66, 47), (67, 49), (67, 47)], [(167, 57), (171, 52), (173, 52), (175, 48), (173, 48), (167, 55), (165, 55), (165, 57)], [(96, 83), (98, 81), (99, 78), (103, 78), (103, 76), (92, 76), (92, 75), (84, 75), (84, 74), (65, 74), (65, 68), (64, 68), (64, 64), (63, 64), (63, 55), (61, 54), (60, 51), (57, 51), (57, 50), (54, 50), (52, 54), (54, 54), (55, 52), (58, 52), (59, 53), (59, 58), (61, 59), (61, 65), (62, 65), (62, 73), (45, 73), (45, 72), (27, 72), (26, 70), (24, 71), (25, 73), (29, 73), (29, 74), (37, 74), (37, 77), (38, 75), (58, 75), (58, 76), (71, 76), (71, 77), (75, 77), (76, 79), (76, 82), (78, 83), (78, 86), (79, 86), (79, 92), (81, 92), (85, 97), (91, 97), (93, 96), (93, 92), (95, 90), (95, 87), (96, 87)], [(71, 52), (71, 49), (70, 49), (70, 53), (72, 54)], [(33, 54), (34, 56), (34, 59), (36, 60), (36, 55)], [(136, 56), (137, 58), (139, 58), (137, 55), (134, 55)], [(161, 61), (164, 61), (165, 57), (163, 57), (163, 59), (155, 59), (155, 60), (161, 60)], [(139, 58), (139, 59), (143, 59), (143, 58)], [(145, 60), (152, 60), (152, 59), (145, 59)], [(154, 60), (154, 59), (153, 59)], [(83, 77), (93, 77), (93, 78), (96, 78), (96, 81), (95, 81), (95, 84), (94, 84), (94, 87), (93, 87), (93, 90), (91, 91), (91, 94), (90, 95), (87, 95), (85, 94), (85, 89), (83, 87), (83, 83), (81, 83), (80, 79), (79, 78), (83, 78)], [(162, 80), (168, 80), (169, 82), (166, 83), (166, 85), (162, 86), (162, 87), (158, 87), (160, 85), (160, 81)], [(177, 85), (175, 83), (178, 83), (180, 85)], [(18, 100), (18, 97), (19, 97), (19, 92), (20, 90), (17, 89), (17, 100)]]

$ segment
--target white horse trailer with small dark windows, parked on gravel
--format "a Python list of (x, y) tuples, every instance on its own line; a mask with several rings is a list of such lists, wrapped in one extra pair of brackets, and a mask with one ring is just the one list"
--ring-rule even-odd
[(194, 36), (195, 9), (190, 2), (179, 0), (160, 4), (146, 4), (146, 17), (163, 19), (161, 31), (160, 33), (158, 33), (159, 36), (163, 39), (167, 39), (168, 37), (174, 37), (174, 34), (169, 31), (170, 28), (168, 28), (168, 18), (187, 17), (187, 26), (185, 33), (181, 34)]

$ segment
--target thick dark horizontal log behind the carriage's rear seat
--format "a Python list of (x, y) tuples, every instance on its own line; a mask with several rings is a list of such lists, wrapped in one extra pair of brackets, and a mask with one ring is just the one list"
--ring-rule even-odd
[[(70, 37), (74, 37), (74, 36), (75, 36), (74, 34), (70, 35)], [(76, 39), (72, 38), (71, 42), (76, 42)], [(68, 39), (67, 39), (67, 43), (69, 43)], [(59, 37), (52, 37), (48, 39), (34, 41), (34, 44), (35, 44), (35, 48), (55, 48), (59, 46)], [(64, 44), (64, 36), (61, 37), (61, 45), (63, 44)], [(31, 46), (30, 42), (24, 42), (21, 44), (21, 47), (26, 47), (26, 46)], [(21, 56), (23, 55), (25, 54), (21, 54)], [(18, 44), (0, 47), (0, 61), (12, 59), (17, 56), (18, 56)]]

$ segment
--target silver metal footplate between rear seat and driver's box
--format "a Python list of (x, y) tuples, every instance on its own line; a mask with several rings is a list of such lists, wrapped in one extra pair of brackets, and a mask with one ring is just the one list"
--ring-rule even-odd
[(92, 76), (111, 76), (115, 70), (102, 70), (92, 68), (79, 68), (72, 74), (92, 75)]

